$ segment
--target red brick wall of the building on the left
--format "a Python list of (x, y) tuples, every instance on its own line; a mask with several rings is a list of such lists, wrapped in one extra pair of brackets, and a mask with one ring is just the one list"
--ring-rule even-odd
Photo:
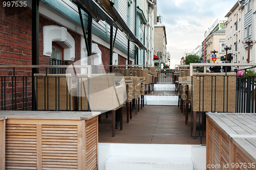
[[(31, 21), (31, 10), (25, 7), (3, 7), (3, 0), (0, 0), (0, 65), (1, 64), (14, 64), (14, 65), (31, 65), (32, 61), (32, 21)], [(56, 22), (39, 16), (39, 64), (49, 65), (50, 57), (43, 55), (43, 27), (49, 25), (58, 25)], [(80, 60), (80, 35), (68, 30), (71, 36), (75, 40), (75, 61)], [(73, 61), (68, 61), (71, 64)], [(31, 68), (16, 68), (15, 76), (32, 76)], [(44, 71), (45, 69), (40, 69)], [(31, 77), (28, 78), (13, 78), (13, 69), (4, 68), (0, 69), (0, 75), (10, 76), (0, 78), (0, 81), (4, 82), (5, 85), (2, 88), (0, 83), (0, 110), (2, 110), (2, 99), (3, 109), (12, 110), (13, 105), (17, 109), (21, 109), (26, 106), (31, 109), (32, 106), (32, 83)], [(23, 93), (23, 87), (26, 84), (27, 79), (27, 93)], [(12, 83), (14, 82), (14, 83)], [(12, 87), (14, 87), (12, 89)], [(16, 88), (15, 88), (16, 87)], [(12, 100), (12, 90), (16, 93), (13, 94), (14, 99)], [(23, 96), (27, 96), (27, 101), (23, 102)], [(24, 106), (23, 106), (24, 103)], [(15, 109), (15, 108), (14, 108)]]

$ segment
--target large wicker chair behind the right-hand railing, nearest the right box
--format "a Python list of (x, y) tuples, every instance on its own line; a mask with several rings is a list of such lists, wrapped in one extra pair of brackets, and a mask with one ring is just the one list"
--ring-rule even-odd
[(228, 72), (227, 76), (217, 72), (194, 73), (192, 79), (193, 135), (196, 135), (196, 112), (236, 112), (237, 79), (236, 72)]

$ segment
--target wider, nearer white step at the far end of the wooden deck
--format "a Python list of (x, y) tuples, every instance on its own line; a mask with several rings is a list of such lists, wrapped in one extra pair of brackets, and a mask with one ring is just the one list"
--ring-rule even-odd
[(145, 95), (144, 97), (146, 105), (178, 106), (179, 96), (176, 95)]

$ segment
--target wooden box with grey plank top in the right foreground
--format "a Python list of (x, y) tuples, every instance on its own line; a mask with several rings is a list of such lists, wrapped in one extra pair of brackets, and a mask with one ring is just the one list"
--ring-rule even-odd
[(206, 165), (221, 166), (206, 169), (256, 169), (256, 114), (207, 113), (206, 122)]

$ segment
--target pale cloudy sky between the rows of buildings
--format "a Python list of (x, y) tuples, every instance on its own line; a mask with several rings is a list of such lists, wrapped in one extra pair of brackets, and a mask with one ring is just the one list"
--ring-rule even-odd
[(171, 60), (180, 62), (204, 40), (204, 32), (225, 17), (236, 0), (157, 0), (157, 12), (163, 16), (167, 51)]

